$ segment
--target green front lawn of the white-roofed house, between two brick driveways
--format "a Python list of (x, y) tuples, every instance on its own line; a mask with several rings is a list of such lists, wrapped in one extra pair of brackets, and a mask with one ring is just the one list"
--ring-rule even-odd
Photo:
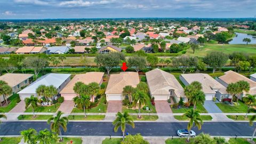
[[(55, 113), (59, 109), (60, 103), (56, 103), (55, 105), (56, 106), (54, 106), (54, 105), (52, 105), (52, 106), (39, 106), (35, 109), (35, 113), (46, 113), (46, 112)], [(31, 113), (31, 112), (33, 112), (32, 107), (28, 107), (25, 110), (25, 113)]]

